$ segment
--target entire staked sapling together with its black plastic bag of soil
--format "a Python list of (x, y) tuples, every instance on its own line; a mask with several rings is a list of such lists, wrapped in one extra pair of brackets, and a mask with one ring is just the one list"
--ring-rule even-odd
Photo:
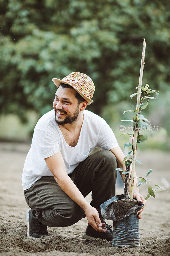
[[(137, 95), (137, 104), (136, 109), (125, 110), (126, 112), (135, 112), (133, 119), (129, 120), (121, 120), (123, 122), (131, 122), (133, 124), (133, 133), (122, 133), (121, 135), (128, 135), (132, 139), (132, 144), (129, 142), (124, 143), (124, 148), (129, 148), (129, 152), (127, 156), (123, 159), (126, 169), (125, 171), (122, 168), (116, 168), (115, 170), (121, 171), (122, 174), (125, 174), (125, 182), (124, 182), (124, 194), (113, 196), (108, 199), (106, 202), (100, 205), (100, 211), (102, 216), (107, 220), (113, 220), (113, 240), (112, 246), (114, 247), (135, 247), (140, 245), (140, 237), (139, 237), (139, 218), (136, 212), (140, 211), (144, 204), (138, 202), (137, 200), (133, 200), (133, 188), (134, 188), (134, 172), (135, 172), (135, 163), (141, 163), (139, 160), (136, 160), (136, 151), (137, 145), (146, 140), (144, 135), (139, 134), (139, 130), (144, 127), (145, 130), (150, 126), (150, 121), (148, 121), (143, 115), (141, 115), (141, 111), (145, 109), (148, 105), (150, 99), (155, 99), (152, 97), (153, 93), (156, 93), (156, 96), (159, 95), (158, 91), (149, 89), (149, 85), (146, 84), (142, 86), (142, 76), (144, 69), (144, 55), (145, 55), (145, 40), (143, 41), (143, 51), (142, 51), (142, 60), (141, 60), (141, 68), (140, 68), (140, 76), (139, 76), (139, 85), (136, 87), (138, 92), (130, 95), (131, 99)], [(123, 114), (124, 114), (123, 113)], [(131, 136), (133, 135), (133, 137)], [(132, 164), (132, 171), (130, 173), (130, 164)], [(146, 177), (140, 177), (141, 180), (137, 182), (137, 186), (140, 186), (142, 183), (150, 182), (147, 178), (148, 175), (152, 172), (152, 169), (148, 171)], [(130, 175), (129, 175), (130, 174)], [(157, 190), (158, 188), (162, 188), (160, 185), (155, 185)], [(130, 187), (130, 199), (128, 197), (128, 188)], [(149, 186), (148, 187), (148, 196), (145, 199), (148, 199), (149, 196), (155, 197), (155, 190)], [(164, 189), (165, 190), (165, 189)]]

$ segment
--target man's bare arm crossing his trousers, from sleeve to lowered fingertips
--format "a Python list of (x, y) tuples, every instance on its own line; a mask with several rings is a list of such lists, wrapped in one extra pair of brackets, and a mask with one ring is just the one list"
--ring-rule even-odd
[(102, 225), (101, 223), (98, 211), (86, 201), (82, 193), (68, 176), (60, 150), (55, 155), (45, 158), (45, 161), (60, 188), (85, 211), (88, 223), (96, 231), (107, 232), (107, 229), (104, 227), (105, 224)]

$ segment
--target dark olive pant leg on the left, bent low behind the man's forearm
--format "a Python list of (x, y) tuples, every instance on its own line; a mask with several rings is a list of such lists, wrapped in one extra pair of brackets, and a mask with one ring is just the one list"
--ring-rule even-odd
[(53, 176), (42, 176), (24, 190), (24, 195), (28, 206), (36, 211), (37, 219), (48, 227), (73, 225), (85, 214), (60, 188)]

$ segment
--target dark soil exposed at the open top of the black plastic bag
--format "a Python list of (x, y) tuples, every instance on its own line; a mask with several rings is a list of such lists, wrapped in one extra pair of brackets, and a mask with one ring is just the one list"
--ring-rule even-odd
[(113, 211), (117, 220), (120, 220), (129, 210), (137, 205), (137, 200), (121, 199), (112, 203)]

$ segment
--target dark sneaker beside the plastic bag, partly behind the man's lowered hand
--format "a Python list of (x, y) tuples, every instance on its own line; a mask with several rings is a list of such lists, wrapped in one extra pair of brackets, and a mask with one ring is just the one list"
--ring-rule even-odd
[[(106, 223), (106, 221), (104, 222), (102, 221), (102, 223)], [(96, 231), (94, 228), (92, 228), (92, 226), (88, 224), (85, 230), (85, 234), (83, 235), (83, 238), (86, 240), (94, 240), (96, 238), (100, 238), (100, 239), (106, 239), (107, 241), (112, 241), (112, 238), (113, 238), (112, 226), (106, 223), (106, 226), (104, 227), (107, 228), (107, 232), (99, 232), (99, 231)]]

